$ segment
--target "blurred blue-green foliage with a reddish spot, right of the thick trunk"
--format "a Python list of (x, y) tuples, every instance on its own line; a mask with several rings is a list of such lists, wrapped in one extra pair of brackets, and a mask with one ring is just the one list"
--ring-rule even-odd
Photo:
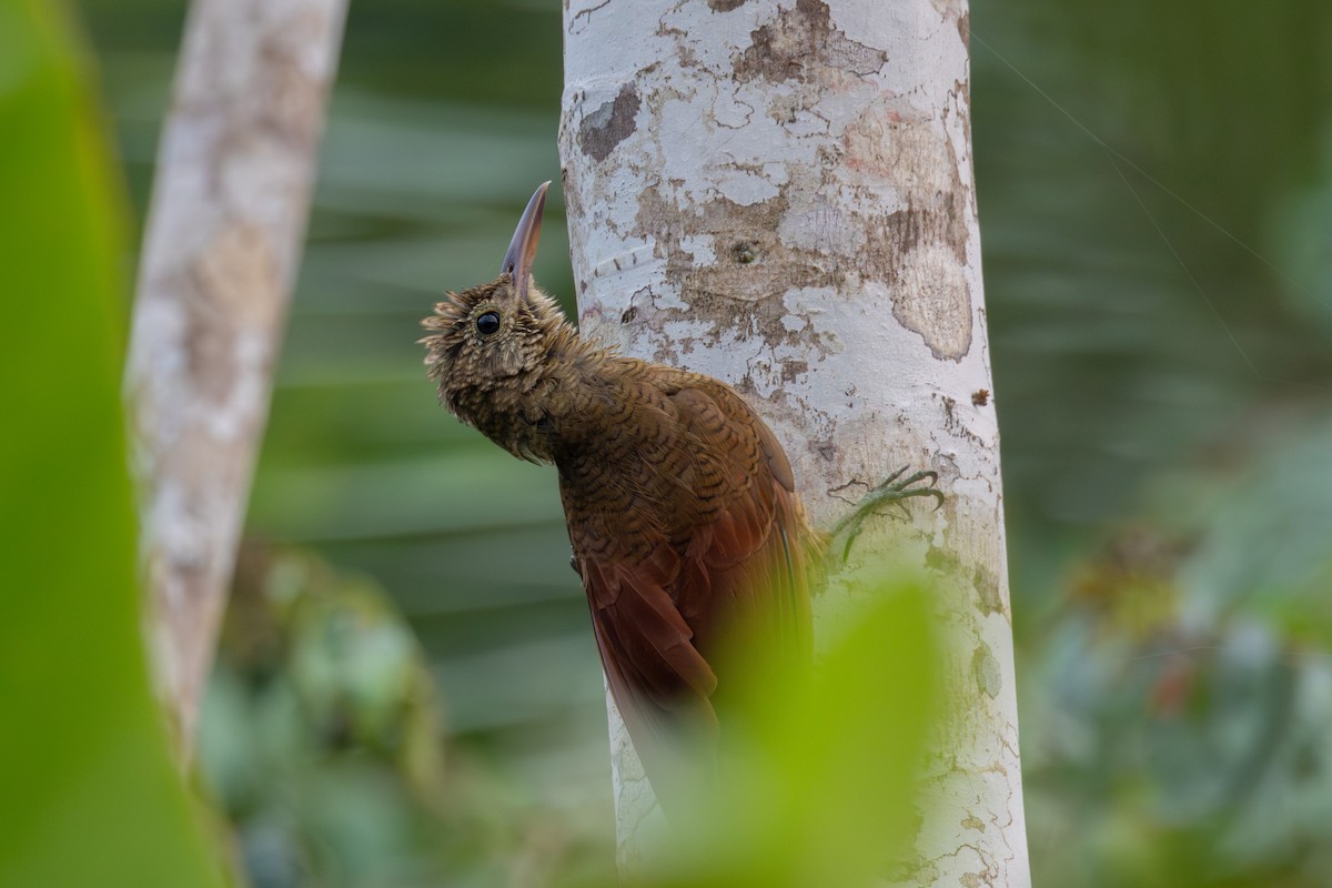
[(1332, 864), (1332, 411), (1196, 467), (1079, 570), (1023, 735), (1059, 884), (1323, 885)]

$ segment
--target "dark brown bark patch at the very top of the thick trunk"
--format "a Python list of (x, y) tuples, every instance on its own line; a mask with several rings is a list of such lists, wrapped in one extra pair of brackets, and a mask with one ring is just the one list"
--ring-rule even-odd
[(782, 9), (774, 21), (753, 31), (750, 40), (749, 49), (735, 60), (741, 81), (810, 81), (821, 68), (872, 75), (888, 60), (882, 49), (834, 28), (823, 0), (797, 0), (794, 9)]

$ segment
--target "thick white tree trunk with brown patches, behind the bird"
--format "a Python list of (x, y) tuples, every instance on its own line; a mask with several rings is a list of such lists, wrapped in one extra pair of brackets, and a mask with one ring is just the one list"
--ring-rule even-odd
[[(936, 469), (856, 543), (927, 567), (958, 711), (906, 884), (1030, 884), (962, 0), (566, 0), (561, 153), (579, 313), (735, 385), (818, 523)], [(817, 620), (852, 590), (835, 579)], [(611, 714), (621, 863), (641, 770)]]

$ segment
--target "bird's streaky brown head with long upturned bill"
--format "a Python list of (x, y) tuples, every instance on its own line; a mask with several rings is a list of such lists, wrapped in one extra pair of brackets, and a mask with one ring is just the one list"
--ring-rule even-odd
[(531, 280), (549, 185), (542, 184), (527, 202), (500, 277), (446, 293), (421, 322), (430, 333), (421, 343), (440, 401), (473, 425), (477, 417), (469, 414), (490, 402), (490, 393), (531, 374), (555, 339), (565, 330), (571, 333), (559, 306)]

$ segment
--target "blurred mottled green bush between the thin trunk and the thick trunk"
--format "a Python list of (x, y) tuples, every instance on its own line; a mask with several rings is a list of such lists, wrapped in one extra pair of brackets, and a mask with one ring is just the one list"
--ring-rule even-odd
[(204, 781), (253, 888), (614, 881), (605, 821), (542, 823), (445, 756), (410, 628), (306, 553), (242, 549), (202, 722)]

